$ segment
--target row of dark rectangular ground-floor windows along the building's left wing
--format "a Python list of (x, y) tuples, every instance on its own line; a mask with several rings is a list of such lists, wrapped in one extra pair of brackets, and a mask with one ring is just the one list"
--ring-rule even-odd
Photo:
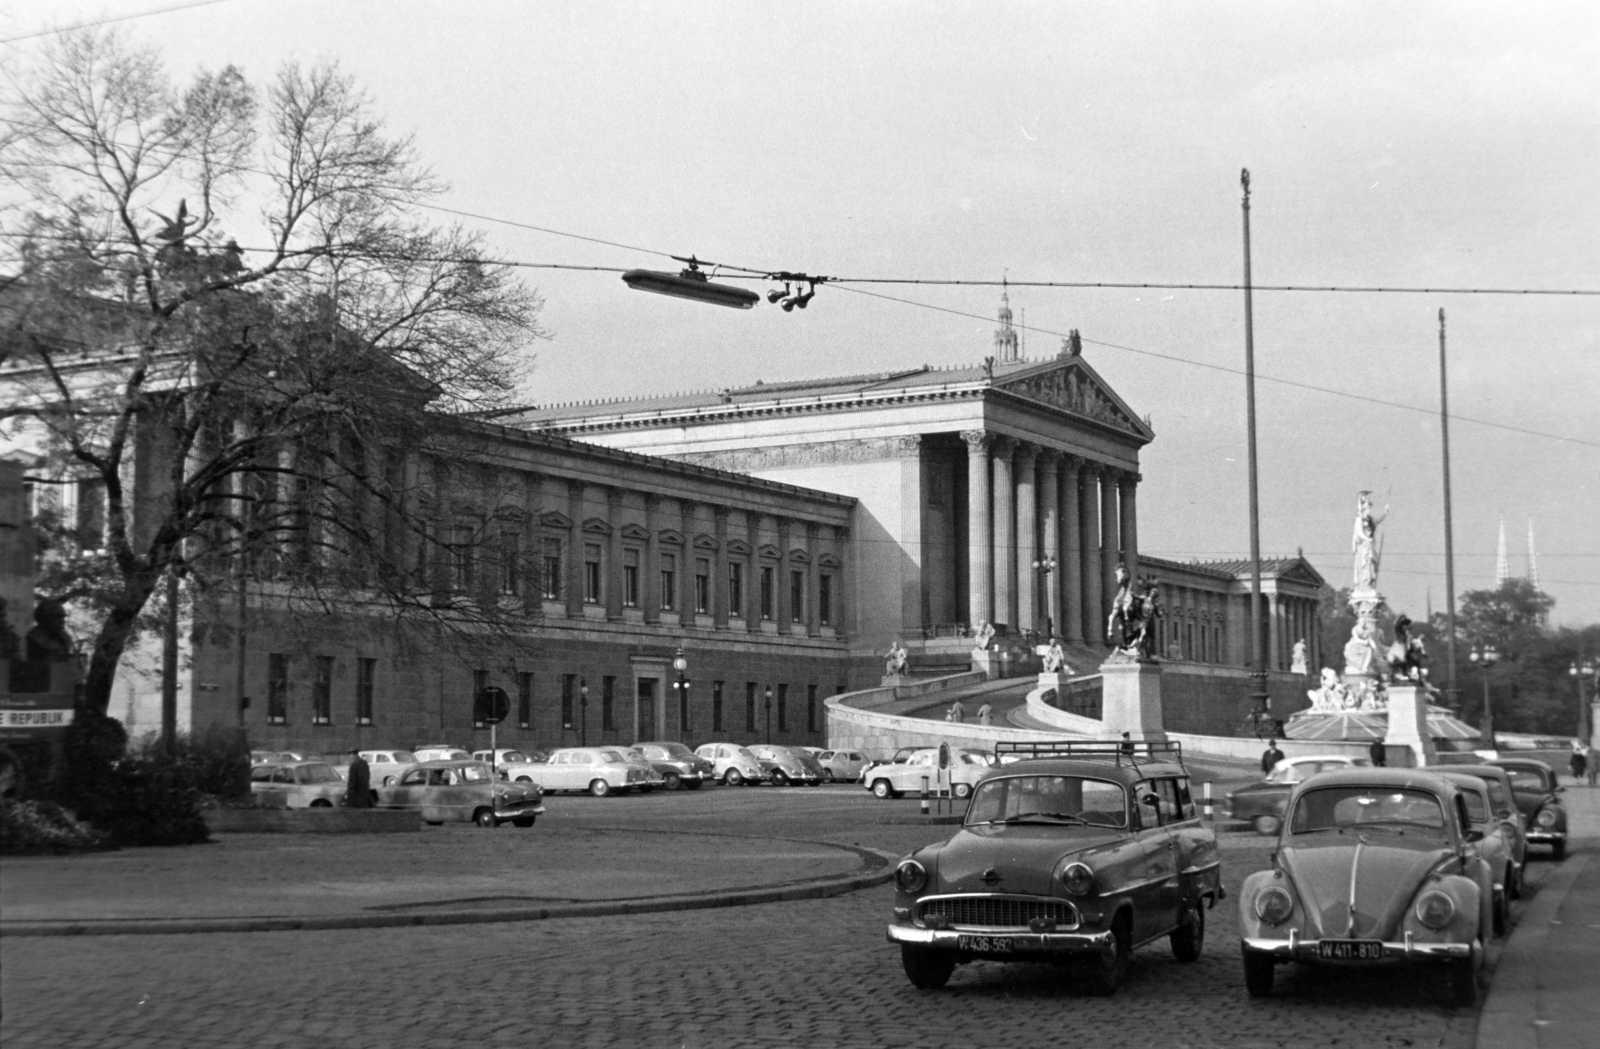
[[(312, 676), (312, 724), (333, 724), (333, 656), (315, 656), (315, 675)], [(378, 660), (376, 659), (357, 659), (355, 660), (355, 723), (371, 724), (373, 723), (373, 681), (376, 676)], [(600, 688), (600, 728), (602, 731), (614, 731), (616, 724), (616, 676), (603, 675)], [(490, 683), (488, 670), (472, 672), (472, 694), (480, 694)], [(712, 732), (726, 731), (723, 692), (725, 681), (712, 681)], [(648, 689), (648, 694), (646, 694)], [(757, 731), (757, 696), (762, 686), (755, 681), (744, 683), (744, 731)], [(678, 728), (682, 732), (688, 734), (690, 724), (690, 686), (685, 683), (683, 689), (677, 689), (674, 683), (674, 691), (678, 692), (677, 716)], [(843, 692), (845, 686), (840, 684), (837, 692)], [(283, 652), (272, 652), (267, 656), (267, 724), (288, 724), (288, 692), (290, 692), (290, 657)], [(778, 731), (789, 731), (789, 684), (781, 683), (762, 692), (765, 697), (765, 712), (768, 718), (776, 712), (778, 715)], [(534, 699), (534, 683), (531, 672), (520, 672), (517, 675), (517, 721), (522, 728), (533, 728), (533, 699)], [(642, 702), (656, 702), (654, 696), (654, 680), (640, 681)], [(776, 704), (774, 704), (776, 700)], [(584, 710), (587, 716), (589, 705), (589, 688), (587, 680), (579, 678), (574, 673), (562, 675), (562, 728), (571, 729), (574, 721), (574, 710)], [(805, 721), (806, 731), (818, 731), (818, 686), (806, 686), (806, 708)], [(475, 728), (488, 728), (483, 721), (474, 721)]]

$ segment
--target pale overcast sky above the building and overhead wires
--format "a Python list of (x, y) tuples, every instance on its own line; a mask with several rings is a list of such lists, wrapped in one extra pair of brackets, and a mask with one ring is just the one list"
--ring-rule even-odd
[[(1600, 5), (0, 0), (0, 40), (98, 18), (168, 69), (338, 61), (502, 259), (666, 256), (842, 278), (805, 312), (530, 269), (530, 403), (990, 350), (1000, 289), (850, 278), (1600, 289)], [(0, 43), (21, 59), (40, 38)], [(522, 225), (515, 225), (522, 224)], [(562, 237), (613, 241), (611, 246)], [(760, 283), (765, 289), (770, 285)], [(888, 296), (888, 297), (883, 297)], [(1243, 293), (1011, 286), (1024, 352), (1078, 329), (1139, 414), (1146, 553), (1248, 555)], [(1456, 590), (1499, 521), (1552, 622), (1600, 622), (1600, 297), (1254, 293), (1261, 542), (1445, 608), (1438, 310)], [(1386, 401), (1386, 403), (1374, 403)]]

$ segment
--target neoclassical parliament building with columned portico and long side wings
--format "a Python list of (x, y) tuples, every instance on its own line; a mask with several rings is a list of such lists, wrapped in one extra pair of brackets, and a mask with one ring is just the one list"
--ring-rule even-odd
[[(280, 632), (251, 598), (245, 723), (258, 747), (488, 745), (472, 696), (496, 684), (512, 697), (501, 745), (821, 745), (822, 700), (877, 684), (896, 640), (914, 672), (960, 670), (987, 620), (1018, 668), (1053, 632), (1093, 673), (1118, 564), (1162, 588), (1163, 659), (1243, 694), (1250, 563), (1139, 552), (1154, 437), (1075, 337), (1024, 360), (1005, 301), (971, 366), (502, 414), (432, 483), (451, 489), (437, 528), (483, 547), (459, 555), (458, 584), (512, 603), (517, 636), (469, 665), (373, 622)], [(496, 560), (507, 548), (525, 556)], [(496, 568), (512, 563), (534, 568)], [(1274, 670), (1301, 638), (1318, 665), (1320, 587), (1301, 558), (1262, 563)], [(235, 723), (232, 636), (200, 624), (186, 644), (181, 721)], [(110, 713), (152, 729), (158, 694), (133, 667)]]

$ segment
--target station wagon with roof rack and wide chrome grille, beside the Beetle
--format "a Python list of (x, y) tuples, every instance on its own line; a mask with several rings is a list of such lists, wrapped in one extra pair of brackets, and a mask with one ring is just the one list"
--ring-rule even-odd
[(1222, 868), (1181, 752), (1141, 744), (1146, 760), (1130, 761), (1117, 744), (1051, 747), (1061, 756), (986, 769), (962, 830), (896, 867), (888, 939), (914, 985), (942, 987), (974, 959), (1077, 961), (1109, 995), (1149, 940), (1200, 959)]

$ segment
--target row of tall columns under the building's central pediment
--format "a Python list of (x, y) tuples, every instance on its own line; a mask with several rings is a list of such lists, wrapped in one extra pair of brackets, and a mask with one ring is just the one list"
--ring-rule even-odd
[[(968, 622), (1053, 625), (1067, 641), (1099, 641), (1117, 564), (1138, 577), (1139, 477), (982, 430), (962, 437)], [(1043, 558), (1054, 558), (1053, 572), (1034, 568)]]

